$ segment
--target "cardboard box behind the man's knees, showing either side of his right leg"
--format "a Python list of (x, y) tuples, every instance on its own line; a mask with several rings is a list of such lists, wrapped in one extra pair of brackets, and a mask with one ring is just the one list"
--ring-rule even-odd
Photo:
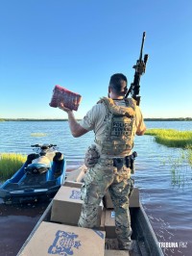
[[(110, 194), (107, 191), (104, 196), (104, 205), (107, 209), (113, 209), (112, 200), (110, 198)], [(138, 188), (134, 188), (132, 192), (132, 196), (130, 197), (130, 208), (139, 207), (139, 191)]]

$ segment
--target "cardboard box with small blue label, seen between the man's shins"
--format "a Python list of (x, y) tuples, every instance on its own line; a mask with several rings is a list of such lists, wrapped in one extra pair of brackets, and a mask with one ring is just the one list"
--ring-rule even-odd
[(105, 231), (107, 239), (115, 239), (115, 213), (111, 210), (106, 210), (106, 218), (105, 218)]

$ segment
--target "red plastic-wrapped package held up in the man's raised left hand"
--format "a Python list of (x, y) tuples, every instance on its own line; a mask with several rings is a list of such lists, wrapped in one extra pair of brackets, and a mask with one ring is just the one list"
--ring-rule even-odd
[(63, 103), (64, 107), (77, 111), (81, 100), (82, 96), (80, 94), (57, 85), (53, 90), (53, 95), (49, 105), (53, 108), (57, 108), (60, 106), (60, 103)]

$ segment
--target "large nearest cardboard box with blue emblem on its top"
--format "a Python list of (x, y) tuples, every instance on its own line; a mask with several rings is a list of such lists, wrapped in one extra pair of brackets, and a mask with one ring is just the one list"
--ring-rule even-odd
[(21, 256), (104, 256), (105, 232), (42, 221)]

